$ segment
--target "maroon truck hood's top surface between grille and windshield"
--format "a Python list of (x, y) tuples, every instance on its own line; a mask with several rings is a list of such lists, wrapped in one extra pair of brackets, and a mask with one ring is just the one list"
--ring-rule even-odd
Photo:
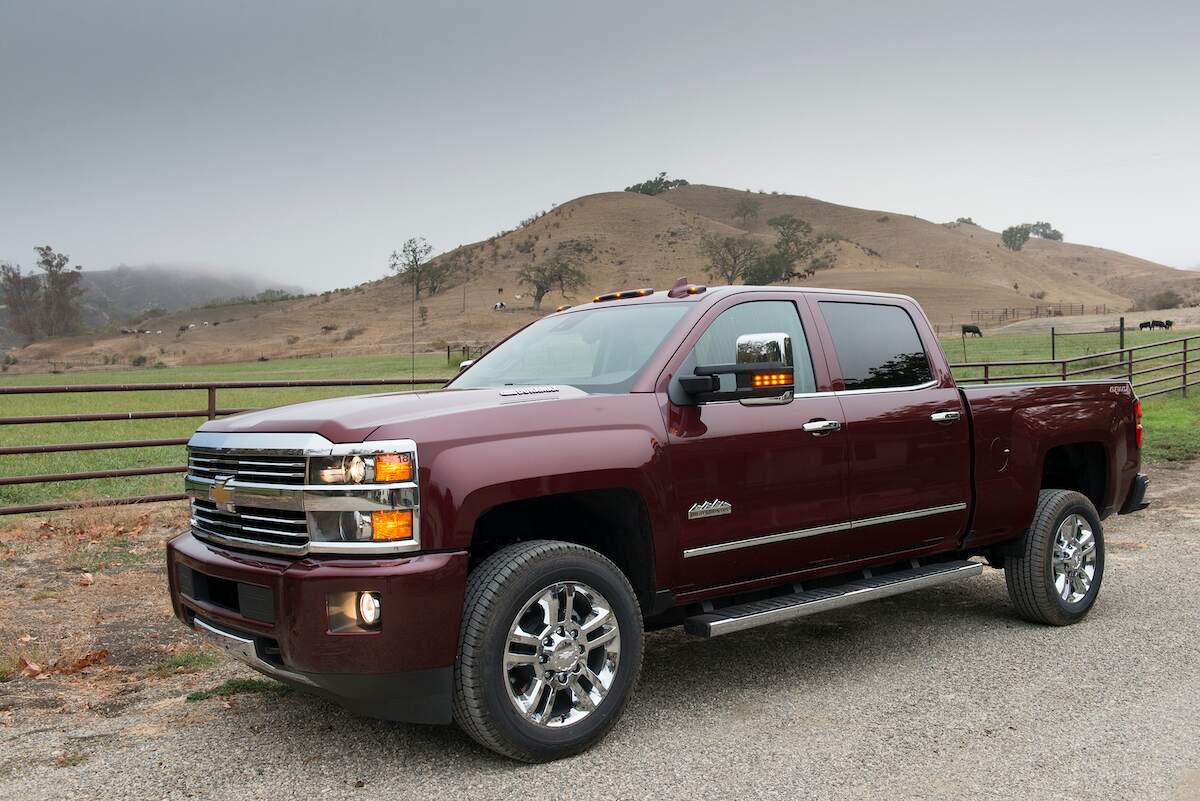
[(305, 433), (320, 434), (331, 442), (362, 442), (382, 426), (586, 397), (586, 392), (571, 386), (385, 392), (248, 411), (206, 422), (199, 430)]

